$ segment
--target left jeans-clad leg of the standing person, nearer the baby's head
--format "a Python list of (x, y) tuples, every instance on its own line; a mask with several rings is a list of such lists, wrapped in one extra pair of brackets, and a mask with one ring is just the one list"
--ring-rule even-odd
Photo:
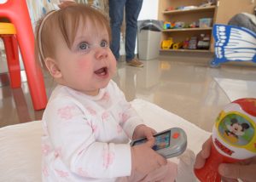
[(116, 60), (119, 60), (120, 27), (124, 18), (126, 0), (109, 0), (109, 17), (112, 31), (110, 48)]

